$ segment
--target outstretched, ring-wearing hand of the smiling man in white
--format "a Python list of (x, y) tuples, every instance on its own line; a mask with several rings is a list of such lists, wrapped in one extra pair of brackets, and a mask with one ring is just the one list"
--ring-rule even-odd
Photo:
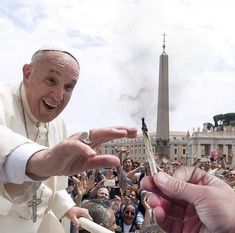
[[(90, 131), (90, 139), (97, 146), (115, 138), (133, 138), (136, 129), (113, 127)], [(100, 167), (116, 167), (120, 164), (117, 156), (97, 155), (85, 143), (81, 142), (80, 134), (74, 134), (51, 149), (36, 152), (26, 165), (26, 174), (31, 178), (67, 175)]]

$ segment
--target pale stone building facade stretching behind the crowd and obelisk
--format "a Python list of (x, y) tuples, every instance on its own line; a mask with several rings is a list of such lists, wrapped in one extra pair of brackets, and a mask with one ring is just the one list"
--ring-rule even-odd
[[(153, 152), (156, 155), (156, 134), (149, 134)], [(193, 165), (195, 158), (210, 156), (212, 150), (224, 156), (228, 164), (235, 168), (235, 127), (223, 126), (214, 130), (207, 130), (205, 127), (192, 132), (170, 132), (170, 161), (181, 160), (187, 165)], [(99, 148), (101, 154), (119, 155), (121, 161), (125, 156), (131, 157), (133, 161), (146, 161), (145, 146), (142, 134), (136, 138), (116, 139), (103, 144)]]

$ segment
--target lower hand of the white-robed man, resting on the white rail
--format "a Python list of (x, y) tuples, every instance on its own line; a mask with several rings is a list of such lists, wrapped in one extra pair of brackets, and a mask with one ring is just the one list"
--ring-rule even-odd
[(70, 208), (64, 216), (67, 217), (76, 228), (80, 227), (80, 217), (85, 217), (87, 219), (92, 220), (92, 217), (90, 216), (89, 211), (87, 209), (76, 206)]

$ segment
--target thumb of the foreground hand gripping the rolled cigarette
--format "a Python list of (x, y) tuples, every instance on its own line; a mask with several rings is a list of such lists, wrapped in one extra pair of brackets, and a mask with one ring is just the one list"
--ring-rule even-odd
[(187, 183), (183, 180), (169, 176), (164, 172), (158, 172), (154, 177), (154, 182), (168, 198), (183, 200), (189, 203), (194, 203), (202, 197), (202, 194), (205, 192), (204, 187), (201, 185)]

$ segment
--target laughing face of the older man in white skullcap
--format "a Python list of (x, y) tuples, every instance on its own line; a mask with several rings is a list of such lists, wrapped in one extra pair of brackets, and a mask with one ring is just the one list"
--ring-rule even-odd
[(66, 53), (48, 51), (23, 67), (26, 98), (40, 122), (56, 118), (68, 104), (76, 85), (79, 66)]

